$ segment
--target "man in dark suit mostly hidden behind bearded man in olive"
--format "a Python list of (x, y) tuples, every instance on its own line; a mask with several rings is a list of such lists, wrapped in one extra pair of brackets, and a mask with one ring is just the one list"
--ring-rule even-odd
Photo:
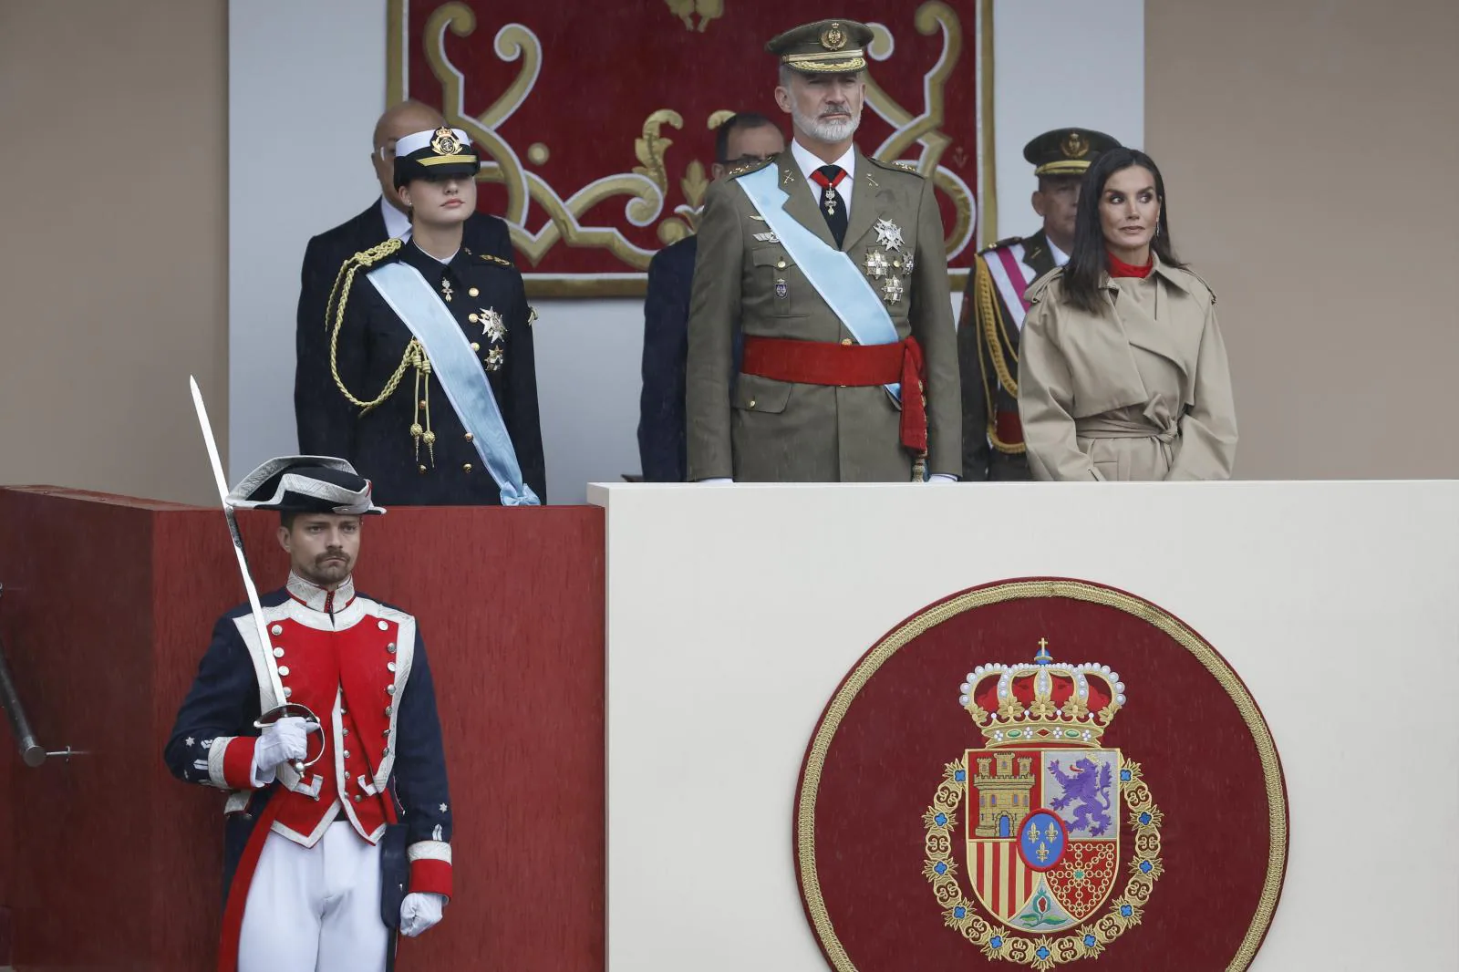
[[(715, 133), (713, 178), (785, 150), (785, 136), (765, 115), (731, 115)], [(643, 391), (639, 396), (639, 461), (646, 483), (681, 483), (684, 454), (684, 360), (689, 356), (689, 290), (696, 236), (659, 250), (648, 264), (643, 301)], [(738, 358), (738, 356), (737, 356)]]

